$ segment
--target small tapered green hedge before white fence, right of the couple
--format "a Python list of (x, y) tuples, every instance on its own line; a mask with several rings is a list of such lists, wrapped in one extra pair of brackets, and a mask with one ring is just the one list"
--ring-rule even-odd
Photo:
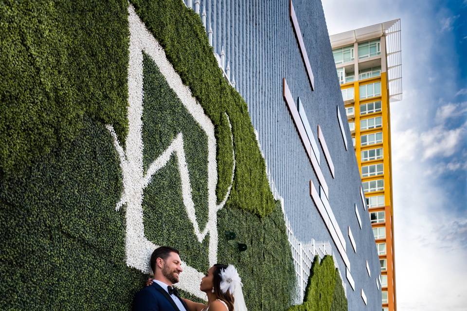
[(332, 256), (315, 256), (306, 285), (304, 302), (288, 311), (347, 311), (347, 298)]

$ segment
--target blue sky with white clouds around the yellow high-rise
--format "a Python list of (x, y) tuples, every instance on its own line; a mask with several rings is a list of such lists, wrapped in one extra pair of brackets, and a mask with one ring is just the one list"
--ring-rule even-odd
[(467, 0), (322, 0), (330, 35), (401, 19), (391, 103), (398, 311), (467, 310)]

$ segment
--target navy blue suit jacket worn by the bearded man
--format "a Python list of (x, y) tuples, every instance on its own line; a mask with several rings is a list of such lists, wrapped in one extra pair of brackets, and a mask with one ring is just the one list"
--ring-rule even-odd
[[(183, 299), (180, 300), (188, 311)], [(153, 282), (136, 293), (133, 298), (133, 311), (180, 311), (180, 309), (169, 294), (159, 284)]]

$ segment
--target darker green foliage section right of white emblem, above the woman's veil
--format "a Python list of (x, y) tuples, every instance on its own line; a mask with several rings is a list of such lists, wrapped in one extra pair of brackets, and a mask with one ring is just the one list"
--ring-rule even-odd
[[(248, 310), (286, 310), (292, 303), (295, 270), (280, 203), (263, 218), (225, 207), (218, 212), (217, 227), (218, 261), (237, 267)], [(227, 231), (235, 232), (236, 239), (227, 241)], [(238, 251), (238, 242), (247, 244), (245, 252)]]

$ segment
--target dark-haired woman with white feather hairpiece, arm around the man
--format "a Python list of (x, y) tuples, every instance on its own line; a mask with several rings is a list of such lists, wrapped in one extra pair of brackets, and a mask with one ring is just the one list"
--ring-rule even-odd
[[(146, 285), (152, 283), (149, 278)], [(182, 298), (188, 311), (247, 311), (242, 282), (233, 265), (215, 264), (202, 278), (199, 289), (208, 296), (208, 304)]]

